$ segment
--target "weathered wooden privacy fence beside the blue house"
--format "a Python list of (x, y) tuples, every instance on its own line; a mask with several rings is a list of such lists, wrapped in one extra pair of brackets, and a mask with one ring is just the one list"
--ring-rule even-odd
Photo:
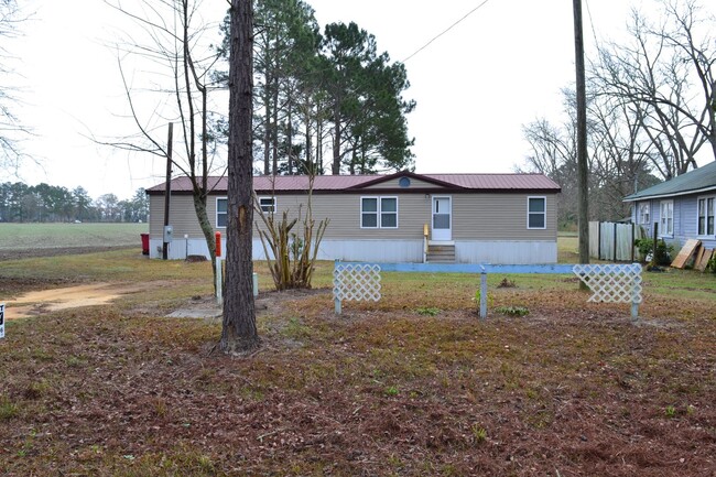
[(634, 224), (590, 221), (589, 257), (615, 262), (642, 260), (634, 241), (643, 237), (643, 228)]

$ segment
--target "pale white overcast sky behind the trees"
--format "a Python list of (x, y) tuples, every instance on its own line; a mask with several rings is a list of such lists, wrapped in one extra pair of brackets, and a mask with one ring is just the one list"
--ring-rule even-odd
[[(128, 198), (139, 187), (163, 182), (160, 159), (113, 151), (87, 138), (132, 128), (123, 117), (117, 54), (108, 47), (130, 28), (100, 0), (25, 3), (35, 14), (23, 25), (22, 41), (13, 44), (24, 100), (18, 112), (35, 133), (24, 150), (41, 166), (28, 163), (21, 178), (82, 185), (95, 198), (105, 193)], [(409, 126), (419, 173), (512, 172), (529, 153), (522, 126), (539, 117), (558, 120), (560, 91), (574, 82), (571, 0), (308, 3), (322, 28), (355, 21), (376, 36), (379, 52), (405, 61), (411, 88), (404, 96), (417, 102)], [(630, 4), (583, 0), (587, 50), (596, 39), (623, 30)], [(205, 21), (219, 22), (226, 6), (226, 0), (204, 0)], [(132, 72), (132, 78), (143, 73)]]

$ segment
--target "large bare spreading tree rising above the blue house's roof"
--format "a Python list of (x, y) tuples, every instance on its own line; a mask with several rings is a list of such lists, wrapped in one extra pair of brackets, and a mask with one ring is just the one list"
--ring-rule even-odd
[(710, 144), (716, 159), (716, 39), (695, 1), (663, 1), (663, 23), (654, 26), (633, 11), (630, 44), (601, 47), (593, 67), (608, 94), (639, 109), (652, 142), (652, 166), (665, 180), (696, 167)]

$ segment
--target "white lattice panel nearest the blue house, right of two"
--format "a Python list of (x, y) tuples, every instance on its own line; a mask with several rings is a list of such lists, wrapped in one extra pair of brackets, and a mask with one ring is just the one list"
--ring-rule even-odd
[(577, 264), (572, 269), (594, 293), (589, 302), (641, 303), (641, 265)]

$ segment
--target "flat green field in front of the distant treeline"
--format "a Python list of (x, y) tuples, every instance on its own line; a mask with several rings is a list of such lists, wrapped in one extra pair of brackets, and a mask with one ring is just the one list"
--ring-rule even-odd
[(149, 224), (0, 224), (0, 249), (140, 246)]

